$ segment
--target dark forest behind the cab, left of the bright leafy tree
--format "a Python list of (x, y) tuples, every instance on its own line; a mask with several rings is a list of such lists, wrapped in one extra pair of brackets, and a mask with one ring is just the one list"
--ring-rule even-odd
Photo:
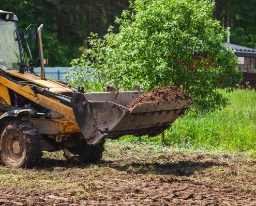
[[(42, 39), (44, 57), (50, 66), (69, 66), (87, 47), (84, 41), (89, 33), (102, 37), (114, 24), (114, 17), (128, 7), (126, 0), (1, 0), (0, 10), (11, 11), (18, 16), (19, 28), (33, 23), (43, 24)], [(27, 51), (26, 51), (27, 52)], [(33, 60), (39, 57), (37, 44), (32, 46)]]

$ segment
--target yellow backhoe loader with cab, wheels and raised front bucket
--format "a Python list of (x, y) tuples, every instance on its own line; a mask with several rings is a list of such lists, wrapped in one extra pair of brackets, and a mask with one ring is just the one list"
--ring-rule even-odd
[[(167, 129), (192, 104), (144, 103), (127, 109), (143, 91), (86, 93), (83, 87), (45, 77), (41, 25), (25, 30), (17, 27), (17, 16), (0, 10), (0, 152), (10, 167), (33, 167), (42, 150), (64, 150), (68, 160), (95, 162), (102, 157), (104, 139), (123, 135), (155, 136)], [(27, 40), (38, 42), (36, 63), (27, 64), (22, 43), (30, 59)], [(30, 41), (29, 40), (29, 41)], [(34, 67), (41, 67), (41, 75)]]

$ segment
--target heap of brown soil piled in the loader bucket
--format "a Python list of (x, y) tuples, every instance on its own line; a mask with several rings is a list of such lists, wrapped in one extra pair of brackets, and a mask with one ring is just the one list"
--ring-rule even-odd
[(140, 95), (137, 99), (134, 99), (126, 107), (127, 109), (131, 109), (141, 103), (165, 102), (187, 99), (191, 99), (191, 97), (187, 93), (183, 92), (177, 87), (167, 86), (158, 89), (154, 88), (150, 92)]

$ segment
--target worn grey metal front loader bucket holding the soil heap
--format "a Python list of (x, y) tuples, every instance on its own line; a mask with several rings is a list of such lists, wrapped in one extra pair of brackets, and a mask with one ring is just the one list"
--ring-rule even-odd
[(142, 103), (127, 109), (142, 93), (74, 93), (71, 99), (74, 116), (88, 144), (97, 144), (103, 137), (155, 136), (192, 104), (192, 100), (187, 99)]

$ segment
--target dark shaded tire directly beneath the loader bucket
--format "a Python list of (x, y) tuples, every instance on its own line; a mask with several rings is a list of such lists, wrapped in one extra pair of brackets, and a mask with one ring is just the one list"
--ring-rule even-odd
[(80, 142), (79, 148), (64, 149), (64, 157), (74, 163), (96, 163), (102, 158), (105, 140), (95, 146), (88, 145), (85, 140)]

